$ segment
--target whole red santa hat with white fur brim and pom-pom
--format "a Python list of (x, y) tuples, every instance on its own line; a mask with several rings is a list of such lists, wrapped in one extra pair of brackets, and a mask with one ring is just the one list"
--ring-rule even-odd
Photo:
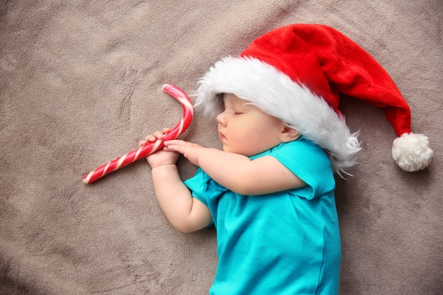
[(361, 149), (338, 106), (340, 94), (383, 108), (398, 138), (392, 155), (406, 171), (432, 159), (428, 139), (410, 130), (410, 109), (389, 74), (348, 37), (326, 25), (294, 24), (255, 39), (200, 79), (196, 105), (217, 115), (217, 94), (233, 93), (280, 118), (328, 151), (336, 173), (355, 165)]

